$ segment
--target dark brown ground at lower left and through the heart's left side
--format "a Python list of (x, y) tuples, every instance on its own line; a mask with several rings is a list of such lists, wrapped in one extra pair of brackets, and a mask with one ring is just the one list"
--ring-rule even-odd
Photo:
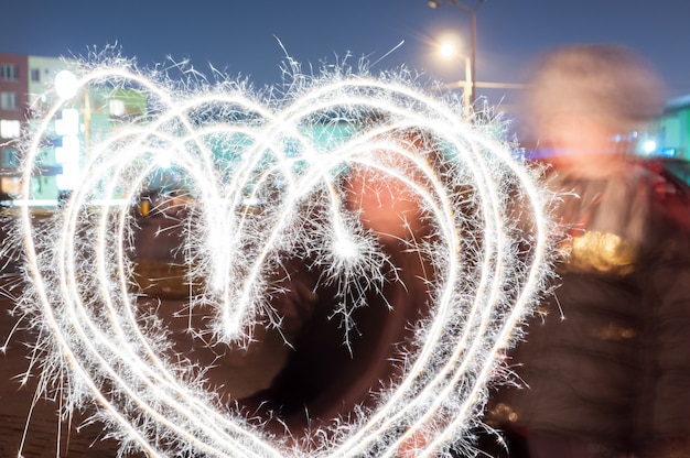
[[(183, 281), (170, 268), (172, 249), (176, 243), (175, 233), (163, 230), (175, 221), (164, 217), (151, 217), (141, 221), (142, 230), (137, 243), (139, 257), (137, 273), (147, 293), (162, 301), (162, 309), (170, 313), (180, 309), (187, 293)], [(160, 233), (159, 233), (160, 232)], [(157, 236), (158, 235), (158, 236)], [(0, 235), (2, 243), (9, 242), (4, 228)], [(100, 424), (86, 424), (94, 411), (76, 413), (72, 418), (60, 421), (60, 400), (36, 397), (39, 368), (31, 372), (29, 383), (21, 383), (21, 374), (30, 364), (31, 347), (36, 340), (33, 331), (26, 330), (25, 320), (12, 316), (15, 297), (21, 285), (15, 260), (2, 260), (0, 275), (0, 346), (7, 342), (7, 350), (0, 355), (0, 458), (110, 458), (117, 456), (119, 444), (108, 439)], [(19, 320), (19, 326), (18, 326)], [(194, 347), (184, 328), (186, 320), (173, 323), (173, 345), (182, 351)], [(17, 329), (15, 329), (17, 327)], [(250, 347), (249, 351), (234, 352), (223, 358), (222, 363), (211, 372), (212, 383), (230, 386), (234, 395), (251, 394), (265, 388), (280, 369), (285, 357), (285, 347), (274, 332), (258, 331), (258, 340), (265, 346)], [(203, 349), (192, 352), (204, 363), (211, 358)], [(129, 455), (140, 457), (142, 455)]]

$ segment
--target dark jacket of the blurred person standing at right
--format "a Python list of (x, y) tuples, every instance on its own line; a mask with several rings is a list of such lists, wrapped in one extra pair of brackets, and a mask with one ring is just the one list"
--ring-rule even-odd
[[(487, 421), (630, 450), (690, 430), (690, 264), (656, 176), (551, 177), (568, 237), (558, 287), (526, 324)], [(671, 399), (673, 397), (673, 399)]]

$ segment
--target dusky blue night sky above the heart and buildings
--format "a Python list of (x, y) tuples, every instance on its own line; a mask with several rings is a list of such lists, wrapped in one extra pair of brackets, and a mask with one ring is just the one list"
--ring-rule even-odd
[[(468, 14), (427, 0), (4, 0), (0, 15), (0, 53), (84, 56), (116, 45), (140, 67), (188, 58), (201, 72), (213, 65), (259, 87), (281, 81), (285, 53), (304, 73), (349, 55), (348, 64), (364, 58), (375, 73), (405, 65), (423, 80), (459, 80), (462, 61), (441, 61), (433, 43), (449, 31), (467, 52), (470, 41)], [(661, 74), (669, 98), (690, 94), (688, 0), (485, 0), (476, 18), (477, 81), (520, 83), (530, 62), (554, 46), (619, 43)], [(490, 105), (516, 96), (478, 92)]]

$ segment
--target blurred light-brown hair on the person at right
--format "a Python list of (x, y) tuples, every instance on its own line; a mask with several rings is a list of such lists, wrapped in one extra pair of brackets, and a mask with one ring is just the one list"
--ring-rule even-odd
[(541, 135), (546, 122), (582, 116), (615, 133), (628, 133), (660, 115), (664, 86), (632, 50), (610, 44), (560, 47), (537, 61), (522, 108), (528, 130)]

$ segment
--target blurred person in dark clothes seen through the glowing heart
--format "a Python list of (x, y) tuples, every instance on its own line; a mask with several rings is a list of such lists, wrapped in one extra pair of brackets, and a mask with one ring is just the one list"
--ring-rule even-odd
[[(401, 133), (399, 141), (405, 148), (425, 148), (414, 132)], [(389, 152), (374, 154), (401, 165)], [(347, 212), (374, 236), (386, 257), (374, 273), (382, 280), (349, 279), (348, 287), (364, 294), (365, 304), (345, 316), (336, 310), (352, 297), (337, 280), (324, 280), (322, 269), (310, 266), (316, 262), (287, 262), (289, 293), (274, 306), (294, 336), (293, 351), (271, 386), (240, 400), (249, 417), (258, 417), (273, 434), (295, 438), (308, 450), (319, 447), (304, 443), (310, 430), (321, 429), (311, 439), (323, 440), (339, 421), (355, 421), (399, 381), (402, 361), (413, 351), (414, 325), (430, 306), (432, 269), (414, 249), (429, 231), (413, 189), (386, 172), (354, 165), (343, 178), (342, 195)]]

